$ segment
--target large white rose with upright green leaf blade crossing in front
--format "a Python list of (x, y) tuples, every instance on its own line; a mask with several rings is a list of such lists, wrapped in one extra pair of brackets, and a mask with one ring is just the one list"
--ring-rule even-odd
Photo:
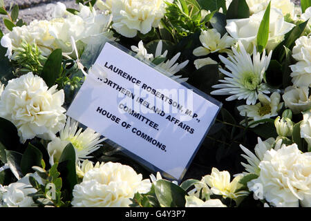
[[(225, 28), (234, 39), (242, 42), (247, 51), (251, 51), (254, 44), (256, 44), (257, 33), (264, 14), (265, 11), (263, 10), (248, 19), (229, 19)], [(294, 24), (284, 21), (281, 10), (271, 8), (267, 50), (273, 50), (283, 41), (285, 34), (292, 30), (294, 26)]]

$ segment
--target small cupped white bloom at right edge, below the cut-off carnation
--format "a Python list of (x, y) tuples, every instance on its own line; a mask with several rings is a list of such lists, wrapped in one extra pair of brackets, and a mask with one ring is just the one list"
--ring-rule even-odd
[(285, 88), (283, 100), (285, 106), (290, 108), (294, 114), (311, 108), (311, 95), (309, 96), (309, 88), (306, 86)]

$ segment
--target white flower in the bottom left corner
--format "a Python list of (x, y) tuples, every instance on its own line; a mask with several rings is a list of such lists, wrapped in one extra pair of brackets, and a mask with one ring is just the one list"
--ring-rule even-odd
[(36, 193), (37, 190), (28, 184), (22, 182), (15, 182), (8, 186), (4, 186), (4, 193), (2, 195), (3, 206), (8, 207), (30, 207), (33, 206), (34, 202), (31, 197), (28, 196), (30, 193)]

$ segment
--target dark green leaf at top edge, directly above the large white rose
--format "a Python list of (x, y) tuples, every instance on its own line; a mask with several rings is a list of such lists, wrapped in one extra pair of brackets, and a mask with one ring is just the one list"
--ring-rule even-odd
[(245, 0), (233, 0), (227, 10), (227, 19), (249, 18), (249, 7)]

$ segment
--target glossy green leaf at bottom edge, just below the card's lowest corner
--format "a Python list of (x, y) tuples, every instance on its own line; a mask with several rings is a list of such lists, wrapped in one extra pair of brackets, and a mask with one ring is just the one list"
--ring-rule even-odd
[(161, 206), (183, 207), (186, 204), (186, 191), (167, 180), (158, 180), (155, 184), (156, 197)]

